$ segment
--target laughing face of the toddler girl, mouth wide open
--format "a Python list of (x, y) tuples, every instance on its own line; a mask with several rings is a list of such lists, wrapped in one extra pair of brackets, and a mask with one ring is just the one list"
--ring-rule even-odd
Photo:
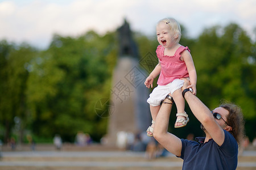
[(156, 36), (158, 37), (158, 42), (164, 48), (171, 48), (177, 44), (177, 37), (174, 36), (174, 32), (171, 31), (170, 25), (165, 22), (160, 22), (156, 26)]

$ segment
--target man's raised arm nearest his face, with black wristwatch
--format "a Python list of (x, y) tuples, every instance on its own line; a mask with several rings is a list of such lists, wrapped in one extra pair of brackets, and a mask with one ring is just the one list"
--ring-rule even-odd
[[(184, 79), (184, 81), (184, 86), (181, 88), (182, 91), (188, 86), (187, 79)], [(225, 134), (221, 126), (214, 119), (209, 108), (205, 106), (205, 104), (201, 100), (199, 100), (198, 97), (196, 97), (189, 91), (185, 93), (184, 97), (192, 113), (207, 130), (206, 133), (209, 134), (209, 136), (218, 144), (218, 146), (221, 146), (224, 142)]]

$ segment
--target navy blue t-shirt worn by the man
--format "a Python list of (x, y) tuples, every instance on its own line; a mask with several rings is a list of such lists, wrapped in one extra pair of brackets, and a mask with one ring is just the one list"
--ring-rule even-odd
[(229, 170), (237, 168), (238, 145), (236, 139), (224, 130), (225, 140), (218, 146), (213, 139), (204, 143), (205, 138), (196, 141), (181, 139), (182, 150), (180, 158), (184, 160), (183, 170), (207, 169)]

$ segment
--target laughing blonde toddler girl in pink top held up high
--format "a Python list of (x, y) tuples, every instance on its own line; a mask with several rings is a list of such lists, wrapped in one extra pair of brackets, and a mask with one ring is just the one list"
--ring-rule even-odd
[(188, 47), (179, 44), (181, 37), (180, 25), (173, 18), (162, 19), (156, 25), (156, 35), (158, 45), (156, 56), (158, 57), (158, 65), (151, 72), (144, 82), (147, 88), (152, 88), (154, 78), (158, 76), (158, 86), (154, 88), (147, 103), (150, 104), (150, 112), (152, 116), (152, 125), (147, 129), (147, 135), (152, 137), (154, 131), (155, 118), (160, 109), (160, 103), (168, 94), (172, 97), (177, 107), (177, 120), (175, 128), (181, 128), (187, 125), (189, 121), (188, 114), (185, 112), (185, 100), (182, 96), (181, 87), (187, 78), (191, 82), (191, 92), (196, 95), (196, 69)]

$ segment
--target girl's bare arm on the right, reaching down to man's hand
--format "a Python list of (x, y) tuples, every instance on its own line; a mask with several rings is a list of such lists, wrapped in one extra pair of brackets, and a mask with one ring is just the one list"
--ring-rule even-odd
[(193, 94), (196, 95), (197, 76), (196, 76), (196, 68), (195, 68), (192, 56), (187, 50), (185, 50), (183, 53), (181, 53), (180, 59), (183, 59), (188, 69), (189, 79), (191, 83), (191, 85), (188, 86), (188, 88), (192, 88)]

